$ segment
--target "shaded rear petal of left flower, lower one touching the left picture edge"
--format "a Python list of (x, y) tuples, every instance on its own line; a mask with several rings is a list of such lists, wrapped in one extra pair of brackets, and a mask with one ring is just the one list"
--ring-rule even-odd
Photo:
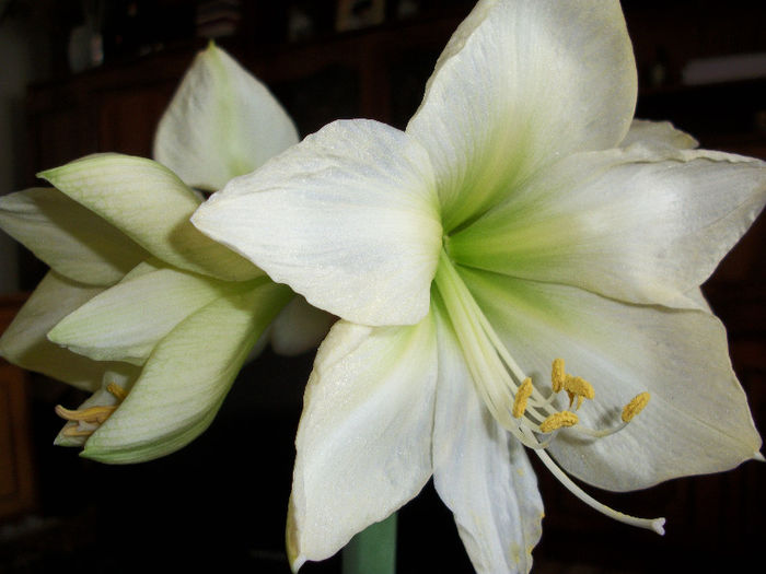
[(0, 355), (11, 363), (43, 373), (74, 387), (94, 390), (113, 363), (95, 362), (46, 339), (67, 314), (102, 291), (49, 271), (0, 337)]

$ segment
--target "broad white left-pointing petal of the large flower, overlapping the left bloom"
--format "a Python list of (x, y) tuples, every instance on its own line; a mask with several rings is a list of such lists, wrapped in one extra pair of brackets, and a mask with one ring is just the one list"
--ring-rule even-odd
[(345, 319), (414, 324), (428, 312), (441, 247), (430, 164), (383, 124), (324, 127), (230, 181), (193, 222)]

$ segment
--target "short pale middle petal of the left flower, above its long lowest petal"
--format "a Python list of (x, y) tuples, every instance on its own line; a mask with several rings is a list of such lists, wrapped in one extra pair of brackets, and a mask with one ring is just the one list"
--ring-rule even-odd
[(178, 323), (234, 285), (170, 267), (142, 273), (94, 296), (48, 339), (96, 361), (140, 365)]

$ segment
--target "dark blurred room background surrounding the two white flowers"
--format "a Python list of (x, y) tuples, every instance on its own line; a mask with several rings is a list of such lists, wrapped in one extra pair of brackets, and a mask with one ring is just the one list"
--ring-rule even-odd
[[(0, 194), (76, 157), (149, 156), (154, 127), (207, 38), (266, 82), (302, 134), (337, 118), (403, 128), (465, 0), (0, 1)], [(637, 116), (705, 148), (766, 159), (763, 1), (624, 0), (640, 77)], [(705, 285), (724, 321), (756, 425), (766, 429), (762, 221)], [(45, 272), (0, 234), (0, 330)], [(619, 326), (615, 326), (617, 330)], [(0, 360), (0, 573), (216, 567), (287, 573), (293, 437), (311, 355), (267, 351), (188, 447), (129, 467), (54, 447), (54, 405), (84, 398)], [(704, 382), (689, 382), (704, 384)], [(668, 517), (664, 538), (611, 522), (539, 469), (539, 573), (729, 572), (761, 558), (766, 466), (596, 497)], [(592, 492), (592, 489), (591, 489)], [(399, 513), (398, 572), (471, 572), (428, 485)], [(759, 561), (759, 560), (758, 560)], [(758, 563), (758, 562), (755, 562)], [(681, 570), (680, 570), (681, 569)], [(338, 558), (306, 573), (340, 572)]]

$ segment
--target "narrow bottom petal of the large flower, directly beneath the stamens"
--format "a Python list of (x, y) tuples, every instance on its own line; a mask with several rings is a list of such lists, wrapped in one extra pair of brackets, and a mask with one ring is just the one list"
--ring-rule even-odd
[(433, 483), (477, 573), (526, 573), (543, 501), (524, 447), (476, 394), (452, 328), (439, 324)]

